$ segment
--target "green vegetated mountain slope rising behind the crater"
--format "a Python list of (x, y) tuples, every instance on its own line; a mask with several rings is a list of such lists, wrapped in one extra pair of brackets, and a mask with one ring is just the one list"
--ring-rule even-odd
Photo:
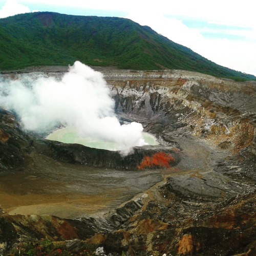
[(196, 71), (234, 80), (256, 79), (202, 57), (150, 27), (117, 17), (52, 12), (0, 19), (0, 70), (73, 65)]

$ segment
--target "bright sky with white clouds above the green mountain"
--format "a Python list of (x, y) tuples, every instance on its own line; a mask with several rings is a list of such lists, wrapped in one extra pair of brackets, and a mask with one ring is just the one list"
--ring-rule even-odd
[(130, 18), (219, 65), (256, 76), (251, 0), (0, 0), (0, 18), (33, 11)]

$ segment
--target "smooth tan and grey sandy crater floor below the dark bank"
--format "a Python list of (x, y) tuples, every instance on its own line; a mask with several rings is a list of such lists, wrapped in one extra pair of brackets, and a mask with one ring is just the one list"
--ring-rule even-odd
[(6, 214), (79, 218), (107, 211), (170, 172), (89, 168), (62, 164), (42, 155), (33, 159), (33, 170), (13, 170), (0, 176), (0, 207)]

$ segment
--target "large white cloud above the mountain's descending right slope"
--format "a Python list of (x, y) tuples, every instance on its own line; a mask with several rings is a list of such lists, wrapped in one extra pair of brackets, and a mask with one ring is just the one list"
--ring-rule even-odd
[[(224, 15), (221, 15), (219, 19), (219, 24), (231, 26), (232, 23), (232, 25), (236, 24), (237, 26), (247, 26), (246, 28), (248, 29), (243, 30), (234, 28), (229, 30), (210, 30), (207, 27), (204, 29), (188, 28), (183, 23), (182, 18), (187, 20), (189, 18), (203, 20), (207, 23), (209, 19), (212, 20), (213, 15), (210, 14), (208, 10), (210, 9), (210, 7), (205, 9), (204, 6), (201, 6), (197, 9), (195, 8), (195, 6), (193, 6), (195, 5), (195, 2), (192, 1), (188, 3), (185, 9), (182, 9), (182, 11), (184, 10), (183, 15), (186, 15), (186, 17), (183, 16), (181, 18), (166, 18), (166, 16), (164, 16), (164, 12), (172, 12), (175, 15), (181, 14), (181, 10), (179, 8), (181, 8), (182, 2), (186, 1), (181, 1), (181, 3), (176, 2), (174, 4), (172, 8), (174, 9), (174, 11), (169, 11), (168, 8), (167, 11), (163, 10), (162, 12), (157, 13), (138, 12), (135, 10), (129, 13), (126, 18), (130, 18), (135, 22), (139, 23), (140, 25), (150, 26), (159, 34), (166, 36), (170, 40), (173, 40), (180, 45), (190, 48), (194, 52), (202, 55), (203, 57), (211, 61), (216, 62), (221, 66), (245, 72), (248, 74), (253, 74), (256, 76), (256, 58), (253, 55), (256, 48), (256, 28), (254, 28), (253, 26), (255, 26), (256, 22), (250, 24), (248, 22), (249, 19), (243, 20), (242, 22), (240, 22), (240, 19), (237, 19), (236, 22), (233, 14), (229, 15), (229, 13), (226, 13), (227, 17), (225, 17), (225, 19)], [(217, 8), (215, 6), (212, 6), (212, 8), (216, 14)], [(188, 12), (189, 9), (191, 10), (190, 12)], [(201, 14), (200, 16), (200, 13), (204, 14)], [(206, 14), (209, 14), (208, 18), (205, 17)], [(227, 20), (228, 18), (230, 18), (230, 20)], [(205, 38), (202, 32), (215, 33), (216, 38)], [(218, 39), (218, 34), (220, 33), (226, 33), (227, 38)], [(228, 35), (233, 35), (238, 38), (239, 36), (241, 36), (243, 38), (240, 38), (240, 40), (228, 39)]]

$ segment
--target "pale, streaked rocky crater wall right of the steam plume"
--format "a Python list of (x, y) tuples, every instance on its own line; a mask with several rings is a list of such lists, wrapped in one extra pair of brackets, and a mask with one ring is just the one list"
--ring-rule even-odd
[(140, 120), (147, 131), (161, 131), (162, 137), (166, 130), (183, 126), (233, 151), (250, 146), (255, 152), (255, 82), (185, 71), (137, 73), (139, 78), (136, 72), (106, 75), (118, 114)]

